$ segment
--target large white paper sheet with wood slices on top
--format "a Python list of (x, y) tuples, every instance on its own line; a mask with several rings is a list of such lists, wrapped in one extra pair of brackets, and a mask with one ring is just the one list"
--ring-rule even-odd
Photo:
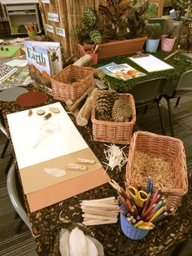
[[(52, 116), (47, 120), (44, 120), (43, 116), (37, 115), (38, 109), (50, 113), (50, 107), (59, 108), (60, 113), (52, 113)], [(11, 139), (20, 169), (88, 148), (87, 143), (60, 103), (33, 108), (32, 110), (31, 117), (28, 117), (28, 110), (7, 115)], [(42, 127), (45, 127), (45, 124), (53, 127), (52, 132), (48, 131), (46, 134), (42, 134)]]

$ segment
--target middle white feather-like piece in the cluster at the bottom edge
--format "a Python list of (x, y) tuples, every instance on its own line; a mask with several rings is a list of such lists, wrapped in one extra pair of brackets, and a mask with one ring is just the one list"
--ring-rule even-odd
[(86, 237), (78, 227), (72, 229), (69, 236), (69, 248), (71, 256), (88, 256)]

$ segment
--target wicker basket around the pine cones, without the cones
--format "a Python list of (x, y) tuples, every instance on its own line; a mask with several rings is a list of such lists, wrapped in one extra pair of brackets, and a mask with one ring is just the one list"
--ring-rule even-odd
[(126, 99), (133, 112), (131, 121), (102, 121), (95, 119), (95, 109), (92, 108), (91, 121), (93, 124), (94, 141), (108, 143), (129, 144), (132, 138), (132, 130), (136, 121), (136, 112), (133, 96), (130, 94), (120, 94), (120, 98)]

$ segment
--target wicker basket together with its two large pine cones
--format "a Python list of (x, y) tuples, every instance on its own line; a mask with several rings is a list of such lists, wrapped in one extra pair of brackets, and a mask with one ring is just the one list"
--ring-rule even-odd
[(102, 90), (91, 112), (94, 141), (129, 144), (136, 111), (133, 95)]

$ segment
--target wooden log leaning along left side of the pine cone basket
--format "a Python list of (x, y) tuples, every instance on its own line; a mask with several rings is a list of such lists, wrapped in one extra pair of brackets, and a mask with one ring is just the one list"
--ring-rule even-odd
[(78, 126), (86, 126), (88, 124), (91, 108), (93, 106), (93, 101), (97, 93), (98, 93), (98, 88), (94, 88), (91, 95), (87, 97), (85, 104), (80, 109), (76, 117), (76, 124)]

